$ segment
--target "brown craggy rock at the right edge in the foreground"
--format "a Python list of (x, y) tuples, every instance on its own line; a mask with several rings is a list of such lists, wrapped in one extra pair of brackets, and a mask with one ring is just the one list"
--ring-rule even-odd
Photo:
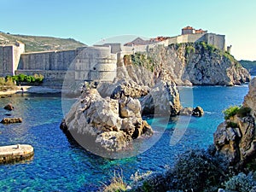
[(214, 145), (218, 154), (224, 155), (231, 166), (239, 168), (253, 162), (256, 157), (255, 82), (256, 79), (253, 79), (249, 84), (249, 92), (241, 110), (218, 125), (214, 133)]

